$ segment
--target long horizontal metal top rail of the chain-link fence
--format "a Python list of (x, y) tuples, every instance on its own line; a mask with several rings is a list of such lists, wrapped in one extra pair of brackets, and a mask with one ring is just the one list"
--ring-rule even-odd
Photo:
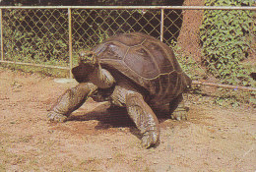
[(0, 6), (0, 9), (173, 9), (173, 10), (253, 10), (256, 7), (228, 6)]

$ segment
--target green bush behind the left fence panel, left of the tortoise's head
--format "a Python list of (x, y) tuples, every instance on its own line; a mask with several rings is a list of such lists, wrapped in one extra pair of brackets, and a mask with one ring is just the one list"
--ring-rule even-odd
[(4, 10), (2, 28), (5, 60), (68, 66), (65, 11)]

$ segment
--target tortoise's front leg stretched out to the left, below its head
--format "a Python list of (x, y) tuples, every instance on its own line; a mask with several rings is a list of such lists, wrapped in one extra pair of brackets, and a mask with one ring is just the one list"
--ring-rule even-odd
[(92, 83), (82, 83), (66, 90), (52, 106), (47, 114), (49, 121), (65, 122), (67, 117), (78, 109), (93, 94), (96, 86)]

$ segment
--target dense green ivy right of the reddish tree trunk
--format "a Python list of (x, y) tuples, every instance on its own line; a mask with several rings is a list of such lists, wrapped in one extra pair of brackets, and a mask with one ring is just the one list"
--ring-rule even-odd
[[(250, 6), (252, 0), (206, 0), (206, 6)], [(251, 86), (247, 58), (253, 28), (252, 12), (243, 10), (205, 10), (200, 29), (202, 53), (208, 71), (225, 84)], [(255, 24), (254, 24), (255, 25)]]

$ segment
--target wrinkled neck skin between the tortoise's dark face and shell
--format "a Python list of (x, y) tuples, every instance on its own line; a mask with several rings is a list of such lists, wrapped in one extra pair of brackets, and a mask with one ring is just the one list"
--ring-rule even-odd
[(96, 69), (89, 74), (89, 81), (96, 85), (98, 88), (108, 88), (113, 86), (115, 80), (113, 76), (105, 69), (102, 69), (98, 64)]

